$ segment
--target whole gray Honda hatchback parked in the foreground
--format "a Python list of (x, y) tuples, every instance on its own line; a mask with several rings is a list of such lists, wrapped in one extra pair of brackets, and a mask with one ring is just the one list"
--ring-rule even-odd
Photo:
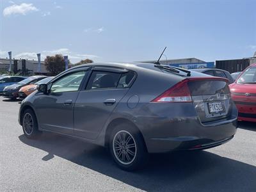
[(202, 150), (234, 137), (237, 109), (227, 79), (152, 63), (70, 68), (20, 105), (28, 138), (57, 132), (108, 147), (124, 170), (148, 153)]

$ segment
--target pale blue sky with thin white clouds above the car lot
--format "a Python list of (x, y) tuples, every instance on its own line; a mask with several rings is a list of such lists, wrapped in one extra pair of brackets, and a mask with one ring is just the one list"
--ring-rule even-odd
[[(0, 0), (0, 58), (93, 61), (253, 56), (254, 1)], [(165, 57), (163, 58), (165, 59)]]

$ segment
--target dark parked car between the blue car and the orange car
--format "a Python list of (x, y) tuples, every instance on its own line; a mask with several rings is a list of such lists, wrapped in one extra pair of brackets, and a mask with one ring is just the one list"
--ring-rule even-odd
[(28, 84), (36, 83), (37, 81), (40, 81), (44, 79), (47, 76), (31, 76), (27, 79), (24, 79), (23, 81), (20, 81), (19, 83), (12, 84), (10, 86), (6, 86), (3, 90), (3, 97), (9, 98), (9, 99), (17, 99), (19, 96), (19, 90), (22, 88), (22, 86), (26, 86)]

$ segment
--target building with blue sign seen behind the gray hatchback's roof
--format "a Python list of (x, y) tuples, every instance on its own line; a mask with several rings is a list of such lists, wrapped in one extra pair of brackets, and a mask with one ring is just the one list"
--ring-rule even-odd
[[(155, 63), (157, 60), (152, 61), (141, 61), (143, 63)], [(184, 58), (177, 60), (160, 60), (159, 63), (162, 65), (172, 65), (174, 67), (181, 68), (214, 68), (214, 61), (205, 62), (203, 60), (198, 60), (197, 58)]]

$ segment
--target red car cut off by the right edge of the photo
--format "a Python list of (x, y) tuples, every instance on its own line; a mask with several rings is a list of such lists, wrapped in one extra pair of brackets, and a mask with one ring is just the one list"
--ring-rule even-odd
[(256, 122), (256, 63), (247, 67), (230, 86), (238, 120)]

